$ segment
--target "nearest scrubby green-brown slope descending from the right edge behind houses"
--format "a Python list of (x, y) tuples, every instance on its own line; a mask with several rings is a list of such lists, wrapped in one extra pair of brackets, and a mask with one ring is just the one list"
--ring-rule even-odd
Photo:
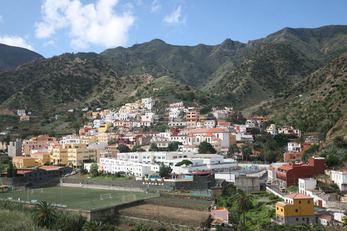
[(261, 111), (264, 116), (276, 118), (278, 124), (291, 125), (302, 132), (328, 133), (328, 139), (346, 136), (346, 61), (347, 52), (246, 113), (250, 116)]

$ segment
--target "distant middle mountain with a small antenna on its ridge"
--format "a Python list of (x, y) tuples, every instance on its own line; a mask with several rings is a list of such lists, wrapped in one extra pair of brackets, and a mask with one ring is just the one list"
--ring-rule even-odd
[(100, 56), (126, 75), (171, 76), (200, 87), (244, 44), (226, 40), (221, 46), (173, 46), (155, 39), (129, 48), (107, 49)]

